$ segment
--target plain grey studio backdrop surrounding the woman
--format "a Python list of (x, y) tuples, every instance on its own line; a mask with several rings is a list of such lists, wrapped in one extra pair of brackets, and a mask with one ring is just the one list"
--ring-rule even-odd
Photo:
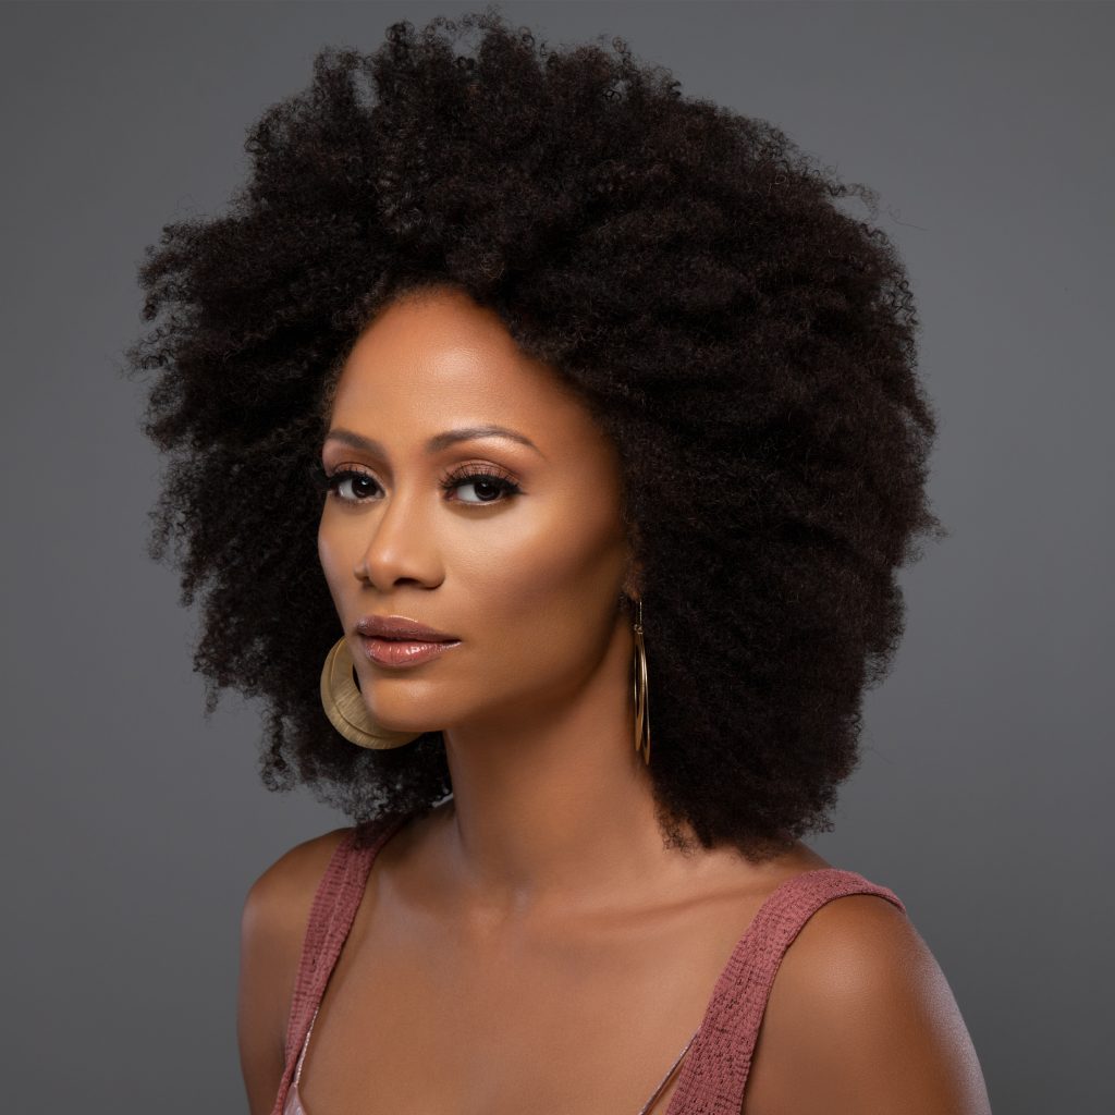
[[(216, 213), (245, 128), (318, 47), (457, 3), (8, 3), (3, 339), (4, 1032), (25, 1115), (246, 1111), (240, 913), (347, 823), (258, 780), (258, 710), (202, 717), (193, 617), (145, 556), (161, 464), (135, 269)], [(475, 7), (478, 7), (475, 6)], [(551, 43), (628, 38), (878, 188), (910, 269), (952, 536), (864, 760), (811, 843), (893, 888), (999, 1115), (1109, 1109), (1115, 10), (1077, 3), (507, 3)]]

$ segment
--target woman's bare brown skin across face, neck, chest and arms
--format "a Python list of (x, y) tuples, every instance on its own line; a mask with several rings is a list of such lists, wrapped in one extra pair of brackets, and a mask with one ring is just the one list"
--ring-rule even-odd
[[(828, 864), (801, 842), (763, 864), (663, 846), (633, 747), (633, 641), (619, 603), (639, 586), (619, 460), (494, 313), (452, 291), (391, 304), (350, 353), (331, 418), (382, 450), (322, 448), (328, 472), (374, 481), (330, 495), (319, 529), (361, 692), (387, 727), (444, 731), (454, 796), (377, 857), (314, 1025), (307, 1108), (633, 1115), (762, 902)], [(496, 438), (425, 447), (492, 423), (537, 452)], [(473, 464), (522, 494), (440, 487)], [(353, 631), (370, 612), (460, 644), (417, 668), (378, 666)], [(239, 1034), (252, 1115), (278, 1092), (310, 902), (343, 832), (292, 849), (245, 903)], [(871, 895), (817, 911), (775, 980), (744, 1115), (987, 1111), (948, 983), (909, 920)]]

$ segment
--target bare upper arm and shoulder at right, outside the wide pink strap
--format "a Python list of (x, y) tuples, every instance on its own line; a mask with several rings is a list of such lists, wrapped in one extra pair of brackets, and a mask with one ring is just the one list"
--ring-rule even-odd
[(748, 1093), (762, 1088), (795, 1115), (991, 1111), (944, 973), (879, 895), (834, 899), (806, 921), (775, 976), (754, 1058)]

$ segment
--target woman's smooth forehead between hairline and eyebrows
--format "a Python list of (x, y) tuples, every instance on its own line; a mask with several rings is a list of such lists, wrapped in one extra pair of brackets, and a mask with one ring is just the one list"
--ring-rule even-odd
[(522, 352), (495, 311), (458, 291), (392, 302), (341, 370), (332, 425), (425, 438), (458, 425), (507, 425), (546, 452), (599, 440), (588, 407), (560, 375)]

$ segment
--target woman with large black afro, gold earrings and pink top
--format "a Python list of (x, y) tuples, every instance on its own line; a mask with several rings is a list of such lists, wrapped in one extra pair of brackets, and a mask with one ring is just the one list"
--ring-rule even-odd
[(323, 50), (140, 272), (207, 707), (353, 821), (248, 895), (250, 1109), (979, 1115), (901, 900), (801, 841), (941, 530), (902, 265), (612, 46)]

